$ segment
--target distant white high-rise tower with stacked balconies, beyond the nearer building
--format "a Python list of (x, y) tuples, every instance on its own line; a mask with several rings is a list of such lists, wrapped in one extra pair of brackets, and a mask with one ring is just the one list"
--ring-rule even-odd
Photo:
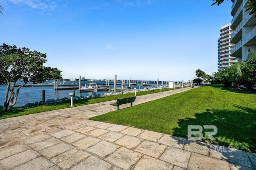
[(230, 28), (231, 23), (220, 27), (220, 37), (218, 39), (218, 70), (226, 69), (232, 64), (238, 62), (238, 58), (230, 56), (230, 50), (234, 44), (230, 42), (233, 30)]

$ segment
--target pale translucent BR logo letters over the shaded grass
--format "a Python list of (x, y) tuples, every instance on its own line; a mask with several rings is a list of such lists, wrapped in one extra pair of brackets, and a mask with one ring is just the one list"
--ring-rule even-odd
[[(213, 135), (216, 135), (218, 132), (218, 129), (216, 126), (214, 125), (203, 125), (204, 129), (213, 129), (213, 131), (207, 131), (204, 132), (212, 141), (215, 141), (215, 138), (213, 137)], [(203, 127), (200, 125), (188, 125), (188, 139), (190, 140), (201, 140), (203, 139), (204, 135), (202, 134), (203, 131)], [(194, 131), (192, 131), (192, 129), (194, 129)], [(199, 129), (199, 130), (195, 130), (195, 129)], [(192, 136), (193, 135), (193, 136)], [(199, 135), (199, 137), (196, 136)]]

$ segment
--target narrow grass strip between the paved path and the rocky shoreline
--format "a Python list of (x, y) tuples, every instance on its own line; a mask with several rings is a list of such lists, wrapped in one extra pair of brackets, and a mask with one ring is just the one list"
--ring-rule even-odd
[[(168, 91), (168, 90), (173, 90), (170, 88), (164, 88), (162, 91)], [(141, 91), (137, 92), (137, 96), (141, 95), (146, 95), (146, 94), (151, 94), (151, 93), (158, 93), (160, 92), (160, 89), (154, 90), (154, 92), (151, 92), (150, 90), (148, 91)], [(73, 101), (73, 106), (82, 106), (86, 104), (94, 104), (94, 103), (99, 103), (99, 102), (106, 102), (110, 100), (117, 100), (120, 98), (128, 98), (134, 96), (134, 93), (128, 93), (128, 94), (118, 94), (118, 95), (112, 95), (112, 96), (105, 96), (105, 97), (100, 97), (100, 98), (88, 98), (84, 100), (74, 100)], [(46, 105), (41, 105), (41, 106), (32, 106), (32, 107), (13, 107), (12, 111), (10, 112), (0, 112), (0, 119), (6, 119), (9, 117), (16, 117), (16, 116), (21, 116), (21, 115), (28, 115), (32, 113), (40, 113), (44, 111), (51, 111), (51, 110), (57, 110), (57, 109), (64, 109), (68, 108), (70, 106), (70, 101), (65, 101), (61, 103), (56, 103), (56, 104), (46, 104)]]

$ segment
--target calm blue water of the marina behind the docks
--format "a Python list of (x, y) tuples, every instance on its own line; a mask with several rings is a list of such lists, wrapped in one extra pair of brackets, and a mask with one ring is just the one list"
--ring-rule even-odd
[[(47, 81), (44, 82), (42, 84), (49, 84), (52, 81)], [(59, 81), (59, 84), (63, 84), (62, 81)], [(65, 84), (78, 84), (78, 81), (66, 81)], [(91, 82), (87, 82), (87, 81), (81, 81), (81, 86), (83, 86), (82, 84), (88, 84)], [(106, 82), (96, 82), (94, 81), (94, 83), (97, 84), (102, 84), (102, 85), (106, 85)], [(110, 84), (114, 84), (114, 82), (109, 82)], [(16, 84), (22, 84), (22, 82), (17, 82)], [(32, 83), (28, 83), (28, 84), (32, 84)], [(77, 85), (78, 86), (78, 85)], [(117, 87), (120, 87), (121, 85), (117, 85)], [(114, 87), (114, 85), (110, 85), (110, 87)], [(133, 86), (133, 88), (139, 88), (139, 86)], [(45, 100), (47, 99), (54, 99), (56, 100), (57, 98), (61, 99), (64, 97), (70, 98), (69, 97), (69, 93), (73, 93), (73, 90), (54, 90), (54, 86), (34, 86), (34, 87), (22, 87), (20, 88), (20, 92), (18, 94), (18, 98), (17, 98), (17, 102), (15, 106), (25, 106), (25, 104), (27, 103), (34, 103), (34, 102), (40, 102), (42, 100), (42, 90), (45, 90)], [(6, 92), (6, 86), (5, 85), (1, 85), (0, 86), (0, 105), (3, 106), (4, 105), (4, 96), (5, 96), (5, 92)], [(16, 92), (16, 88), (14, 90), (14, 92)], [(97, 94), (104, 94), (107, 91), (98, 91)], [(76, 96), (88, 96), (88, 95), (92, 95), (93, 92), (81, 92), (79, 93), (78, 90), (75, 90), (75, 95)], [(15, 107), (14, 106), (14, 107)]]

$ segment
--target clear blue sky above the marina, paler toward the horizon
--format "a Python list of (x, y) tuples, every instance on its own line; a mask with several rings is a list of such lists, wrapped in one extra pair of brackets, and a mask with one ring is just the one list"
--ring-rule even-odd
[(0, 43), (46, 53), (64, 78), (192, 80), (217, 72), (232, 2), (1, 0)]

